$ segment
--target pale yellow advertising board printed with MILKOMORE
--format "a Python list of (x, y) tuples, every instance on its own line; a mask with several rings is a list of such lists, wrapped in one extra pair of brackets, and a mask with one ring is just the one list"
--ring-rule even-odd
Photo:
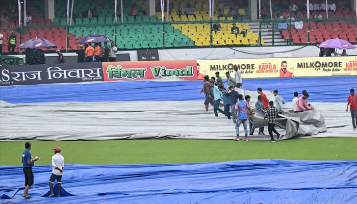
[(224, 79), (225, 72), (231, 75), (234, 73), (234, 65), (240, 70), (243, 79), (357, 75), (356, 57), (260, 58), (197, 60), (198, 79), (203, 75), (212, 77), (216, 71)]

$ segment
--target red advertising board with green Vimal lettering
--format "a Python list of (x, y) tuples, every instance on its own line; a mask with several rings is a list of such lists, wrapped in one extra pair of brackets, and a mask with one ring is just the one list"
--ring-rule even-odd
[(196, 60), (103, 62), (104, 81), (154, 80), (175, 75), (197, 80)]

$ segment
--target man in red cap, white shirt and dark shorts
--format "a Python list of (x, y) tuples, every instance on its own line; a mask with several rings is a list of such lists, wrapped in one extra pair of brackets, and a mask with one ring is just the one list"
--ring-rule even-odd
[(57, 180), (58, 185), (58, 193), (57, 197), (61, 196), (61, 183), (62, 183), (62, 175), (64, 168), (64, 157), (61, 155), (61, 147), (55, 147), (55, 155), (52, 156), (52, 175), (49, 177), (49, 196), (54, 196), (54, 187), (53, 183)]

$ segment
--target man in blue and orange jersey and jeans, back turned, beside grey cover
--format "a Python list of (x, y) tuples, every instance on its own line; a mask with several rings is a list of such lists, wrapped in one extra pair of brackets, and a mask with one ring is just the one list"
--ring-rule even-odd
[(247, 111), (248, 106), (247, 103), (243, 100), (243, 95), (239, 94), (238, 95), (239, 101), (235, 105), (235, 111), (234, 111), (234, 123), (236, 123), (236, 138), (234, 138), (234, 141), (240, 140), (239, 138), (239, 126), (243, 124), (243, 129), (244, 129), (244, 141), (248, 141), (248, 130), (247, 130)]

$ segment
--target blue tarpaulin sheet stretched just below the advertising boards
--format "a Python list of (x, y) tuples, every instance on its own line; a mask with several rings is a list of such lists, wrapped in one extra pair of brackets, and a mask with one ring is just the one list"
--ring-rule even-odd
[[(12, 104), (100, 101), (202, 100), (202, 81), (126, 81), (87, 84), (52, 84), (0, 87), (0, 99)], [(224, 82), (226, 86), (226, 82)], [(357, 77), (278, 78), (243, 80), (242, 89), (278, 89), (283, 98), (307, 90), (311, 102), (346, 102)]]

